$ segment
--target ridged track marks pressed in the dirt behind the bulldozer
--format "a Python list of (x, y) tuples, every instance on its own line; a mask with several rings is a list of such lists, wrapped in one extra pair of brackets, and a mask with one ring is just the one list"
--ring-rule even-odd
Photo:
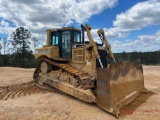
[(21, 96), (27, 96), (38, 93), (43, 94), (47, 92), (51, 91), (35, 86), (33, 81), (10, 86), (0, 86), (0, 100), (14, 99)]

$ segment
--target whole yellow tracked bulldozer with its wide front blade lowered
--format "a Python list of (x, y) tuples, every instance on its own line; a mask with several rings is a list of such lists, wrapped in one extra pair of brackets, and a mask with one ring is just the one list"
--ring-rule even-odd
[[(145, 91), (139, 60), (115, 60), (103, 29), (97, 31), (102, 44), (91, 35), (91, 26), (47, 29), (46, 45), (35, 50), (39, 63), (35, 85), (54, 87), (86, 102), (96, 103), (115, 115)], [(84, 40), (84, 32), (88, 40)], [(108, 64), (108, 58), (111, 58)]]

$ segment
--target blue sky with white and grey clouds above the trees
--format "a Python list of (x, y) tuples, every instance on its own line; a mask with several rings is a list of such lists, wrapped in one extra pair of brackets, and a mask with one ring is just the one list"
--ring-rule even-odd
[(160, 0), (0, 0), (0, 37), (25, 27), (45, 44), (46, 29), (90, 24), (113, 52), (160, 50)]

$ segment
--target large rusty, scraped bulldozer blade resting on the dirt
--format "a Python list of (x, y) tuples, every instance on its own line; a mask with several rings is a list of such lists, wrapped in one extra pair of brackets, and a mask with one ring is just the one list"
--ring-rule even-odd
[(144, 87), (143, 69), (140, 62), (116, 62), (97, 73), (97, 104), (116, 115), (120, 108), (133, 101)]

